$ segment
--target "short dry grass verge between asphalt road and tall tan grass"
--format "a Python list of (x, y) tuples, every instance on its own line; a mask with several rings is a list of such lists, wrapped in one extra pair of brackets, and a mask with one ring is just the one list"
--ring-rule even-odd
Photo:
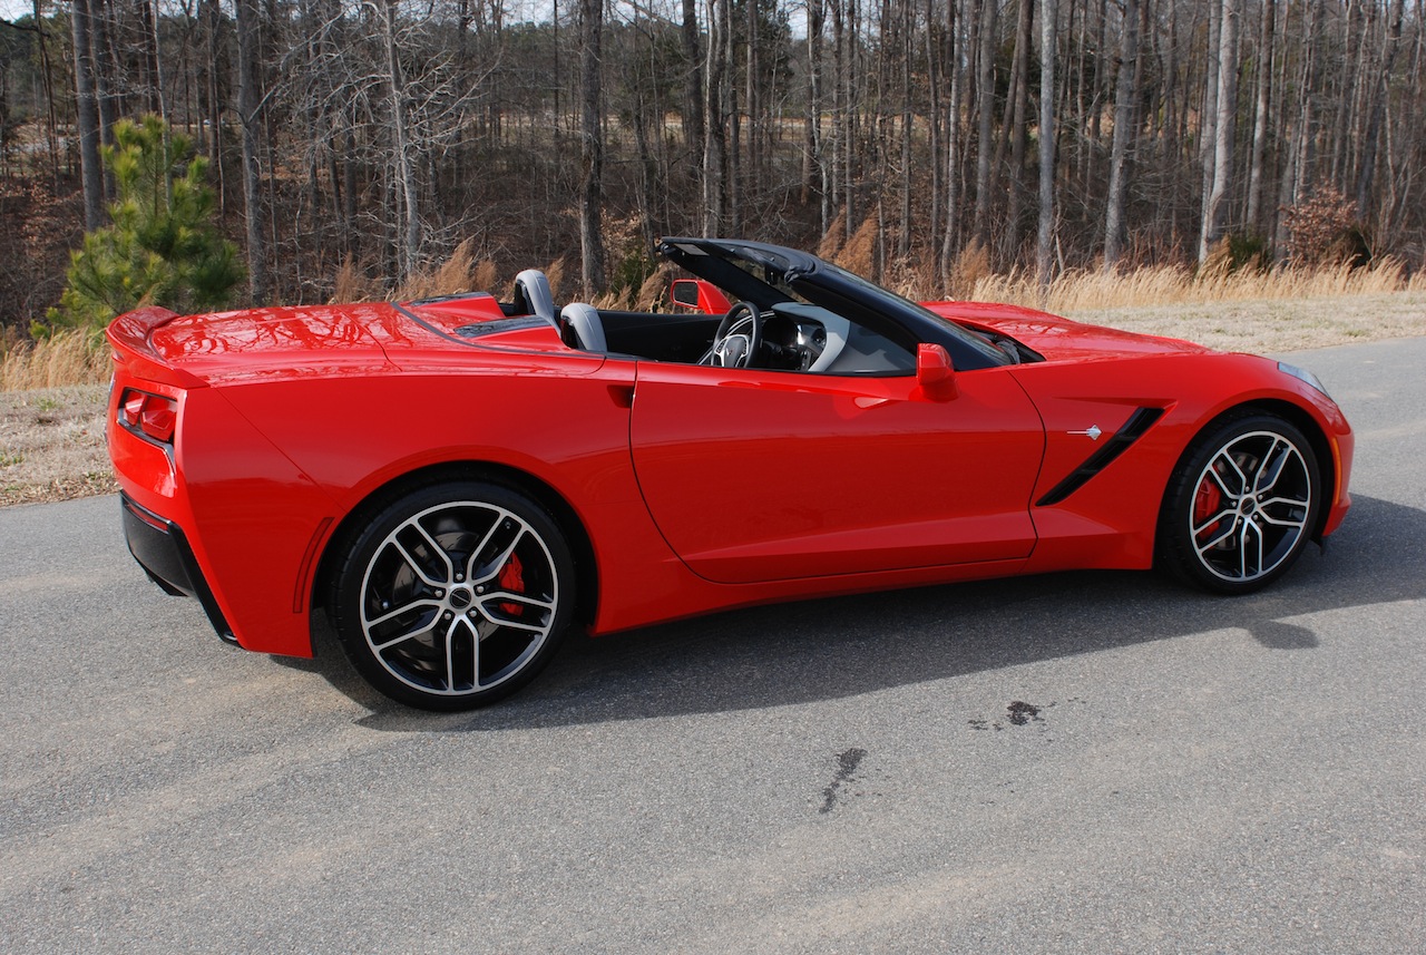
[[(1068, 312), (1224, 351), (1279, 353), (1426, 335), (1426, 292)], [(118, 489), (104, 449), (106, 385), (0, 392), (0, 507)]]

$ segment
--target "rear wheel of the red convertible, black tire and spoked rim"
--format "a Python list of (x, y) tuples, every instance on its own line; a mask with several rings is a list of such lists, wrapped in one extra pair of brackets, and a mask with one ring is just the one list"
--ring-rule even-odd
[(356, 670), (398, 703), (471, 710), (538, 674), (575, 603), (555, 520), (509, 487), (445, 482), (376, 510), (348, 539), (328, 600)]

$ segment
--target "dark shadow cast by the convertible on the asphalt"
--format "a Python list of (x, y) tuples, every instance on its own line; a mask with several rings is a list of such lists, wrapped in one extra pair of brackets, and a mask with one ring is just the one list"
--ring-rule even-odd
[[(311, 668), (392, 731), (499, 731), (722, 713), (874, 693), (1055, 657), (1241, 629), (1275, 651), (1319, 646), (1299, 616), (1426, 593), (1426, 512), (1356, 497), (1326, 553), (1224, 599), (1159, 574), (1077, 572), (754, 607), (599, 639), (572, 636), (533, 684), (431, 714), (369, 690), (331, 636)], [(322, 646), (325, 644), (325, 646)]]

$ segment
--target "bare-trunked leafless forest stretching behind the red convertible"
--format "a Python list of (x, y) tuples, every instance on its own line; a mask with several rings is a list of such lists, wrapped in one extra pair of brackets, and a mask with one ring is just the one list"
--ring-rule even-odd
[(0, 318), (54, 305), (98, 161), (208, 158), (252, 304), (379, 296), (458, 247), (633, 299), (660, 234), (990, 274), (1426, 255), (1426, 0), (6, 0)]

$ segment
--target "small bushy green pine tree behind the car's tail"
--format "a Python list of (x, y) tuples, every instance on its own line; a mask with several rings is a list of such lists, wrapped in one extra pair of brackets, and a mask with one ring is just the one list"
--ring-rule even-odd
[[(157, 115), (114, 124), (104, 167), (114, 177), (113, 225), (84, 235), (70, 252), (60, 305), (31, 334), (98, 332), (116, 315), (141, 305), (175, 312), (215, 311), (242, 281), (237, 247), (212, 228), (208, 161), (190, 157), (193, 140)], [(185, 161), (187, 160), (187, 161)]]

